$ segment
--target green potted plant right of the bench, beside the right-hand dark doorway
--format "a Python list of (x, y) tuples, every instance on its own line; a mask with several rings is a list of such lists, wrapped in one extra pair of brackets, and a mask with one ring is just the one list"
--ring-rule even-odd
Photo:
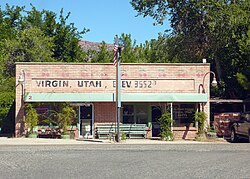
[(171, 130), (171, 126), (173, 125), (173, 120), (171, 119), (171, 113), (166, 112), (162, 114), (162, 116), (158, 119), (160, 122), (160, 127), (161, 127), (161, 138), (163, 140), (173, 140), (174, 135), (173, 131)]

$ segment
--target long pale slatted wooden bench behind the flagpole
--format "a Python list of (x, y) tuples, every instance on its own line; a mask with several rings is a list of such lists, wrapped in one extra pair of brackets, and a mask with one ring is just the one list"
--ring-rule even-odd
[[(96, 136), (101, 138), (109, 138), (117, 133), (117, 126), (112, 124), (99, 124), (96, 126)], [(147, 125), (146, 124), (120, 124), (120, 134), (125, 133), (126, 137), (132, 138), (146, 138)]]

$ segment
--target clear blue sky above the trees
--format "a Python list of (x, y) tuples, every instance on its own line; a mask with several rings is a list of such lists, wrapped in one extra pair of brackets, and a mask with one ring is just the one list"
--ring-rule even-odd
[(1, 9), (5, 4), (25, 6), (29, 10), (32, 3), (38, 10), (46, 9), (59, 14), (61, 8), (65, 15), (71, 12), (69, 22), (75, 23), (78, 30), (90, 29), (82, 40), (113, 43), (115, 35), (131, 34), (137, 44), (156, 39), (158, 33), (169, 29), (169, 23), (153, 26), (151, 17), (135, 17), (137, 12), (130, 5), (130, 0), (1, 0)]

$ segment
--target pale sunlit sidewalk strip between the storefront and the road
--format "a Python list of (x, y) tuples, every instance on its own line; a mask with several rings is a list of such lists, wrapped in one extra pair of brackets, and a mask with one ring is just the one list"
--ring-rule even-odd
[(161, 141), (161, 140), (151, 140), (151, 139), (127, 139), (126, 141), (121, 141), (119, 143), (112, 142), (109, 140), (99, 140), (99, 139), (44, 139), (44, 138), (6, 138), (0, 137), (1, 145), (85, 145), (85, 144), (213, 144), (213, 143), (227, 143), (224, 140), (212, 141), (212, 142), (198, 142), (191, 140), (174, 140), (174, 141)]

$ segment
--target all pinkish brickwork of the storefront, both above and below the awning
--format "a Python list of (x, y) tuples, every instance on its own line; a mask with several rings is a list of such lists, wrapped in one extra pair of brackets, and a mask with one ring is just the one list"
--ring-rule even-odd
[[(33, 93), (114, 93), (114, 87), (79, 88), (74, 85), (63, 87), (39, 87), (42, 80), (102, 80), (103, 83), (115, 80), (116, 70), (112, 64), (64, 64), (64, 63), (17, 63), (16, 64), (16, 136), (22, 134), (21, 121), (24, 108), (22, 86), (18, 85), (21, 69), (25, 72), (25, 91)], [(122, 80), (157, 80), (157, 88), (122, 88), (129, 93), (198, 93), (204, 74), (210, 71), (209, 64), (122, 64)], [(167, 81), (168, 80), (168, 81)], [(164, 82), (165, 81), (165, 82)], [(167, 81), (167, 82), (166, 82)], [(171, 84), (171, 85), (169, 85)], [(204, 88), (209, 97), (210, 75), (205, 78)], [(103, 109), (102, 109), (103, 108)], [(209, 105), (205, 104), (208, 114)], [(115, 103), (96, 103), (95, 122), (115, 121)]]

